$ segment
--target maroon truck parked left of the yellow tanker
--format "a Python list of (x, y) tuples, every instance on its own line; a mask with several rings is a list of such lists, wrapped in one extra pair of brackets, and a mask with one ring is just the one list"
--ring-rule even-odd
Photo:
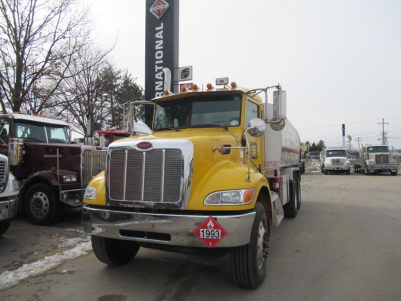
[(22, 181), (20, 211), (38, 225), (82, 205), (85, 188), (104, 169), (106, 148), (71, 143), (68, 124), (38, 115), (0, 115), (0, 153)]

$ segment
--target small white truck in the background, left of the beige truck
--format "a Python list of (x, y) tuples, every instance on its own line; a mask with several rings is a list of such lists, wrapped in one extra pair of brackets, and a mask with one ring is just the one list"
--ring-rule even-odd
[(321, 172), (327, 175), (329, 172), (342, 172), (347, 175), (351, 172), (351, 163), (347, 158), (345, 148), (323, 149), (321, 161)]

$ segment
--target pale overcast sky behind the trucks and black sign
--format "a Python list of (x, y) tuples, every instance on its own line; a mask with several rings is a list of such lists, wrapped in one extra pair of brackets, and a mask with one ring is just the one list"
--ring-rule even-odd
[[(85, 1), (85, 0), (83, 0)], [(144, 86), (145, 0), (91, 2), (97, 40)], [(278, 82), (301, 141), (341, 145), (346, 134), (401, 148), (401, 1), (181, 0), (179, 65), (202, 85)], [(348, 145), (348, 143), (347, 143)]]

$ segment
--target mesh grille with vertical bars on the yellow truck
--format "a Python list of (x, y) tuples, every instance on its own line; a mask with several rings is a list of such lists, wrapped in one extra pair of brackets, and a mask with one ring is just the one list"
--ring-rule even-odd
[[(183, 178), (181, 149), (134, 148), (110, 153), (109, 195), (117, 201), (180, 201)], [(124, 190), (125, 187), (125, 190)]]

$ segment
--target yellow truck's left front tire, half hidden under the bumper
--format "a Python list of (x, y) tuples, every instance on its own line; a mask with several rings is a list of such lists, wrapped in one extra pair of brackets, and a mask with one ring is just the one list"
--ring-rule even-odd
[(135, 241), (91, 236), (97, 259), (108, 265), (123, 265), (132, 260), (140, 248)]

